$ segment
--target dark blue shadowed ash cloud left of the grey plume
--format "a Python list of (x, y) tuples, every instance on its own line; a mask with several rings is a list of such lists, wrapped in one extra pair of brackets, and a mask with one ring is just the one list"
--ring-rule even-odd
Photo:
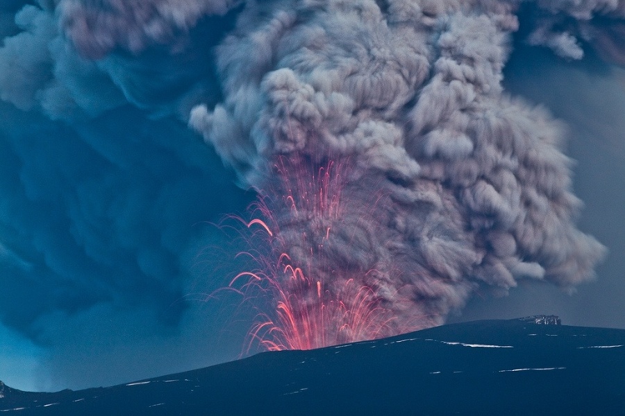
[(188, 306), (201, 224), (248, 199), (179, 117), (190, 97), (219, 96), (192, 49), (206, 28), (188, 49), (94, 61), (63, 32), (60, 6), (1, 6), (0, 319), (63, 345), (52, 322), (104, 304), (147, 309), (167, 332)]

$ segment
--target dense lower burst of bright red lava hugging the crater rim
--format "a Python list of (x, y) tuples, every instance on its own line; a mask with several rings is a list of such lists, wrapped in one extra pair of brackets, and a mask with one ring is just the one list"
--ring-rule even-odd
[[(249, 333), (247, 350), (258, 343), (263, 349), (313, 349), (379, 338), (392, 315), (379, 305), (374, 289), (348, 279), (338, 293), (325, 288), (322, 279), (306, 277), (283, 253), (271, 275), (246, 272), (245, 293), (267, 293), (275, 309), (260, 313)], [(252, 286), (254, 286), (252, 288)]]

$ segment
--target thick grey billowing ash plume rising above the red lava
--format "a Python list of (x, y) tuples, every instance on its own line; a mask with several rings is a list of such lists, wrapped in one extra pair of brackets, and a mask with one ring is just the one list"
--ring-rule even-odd
[[(607, 4), (538, 1), (531, 42), (580, 58), (575, 33), (547, 28), (622, 15)], [(570, 288), (603, 252), (574, 226), (565, 128), (501, 87), (518, 6), (249, 3), (217, 48), (224, 101), (192, 111), (242, 182), (265, 191), (276, 250), (329, 293), (350, 279), (374, 288), (390, 333), (442, 322), (480, 287)], [(337, 208), (317, 209), (308, 196), (324, 187), (307, 184), (333, 163)]]

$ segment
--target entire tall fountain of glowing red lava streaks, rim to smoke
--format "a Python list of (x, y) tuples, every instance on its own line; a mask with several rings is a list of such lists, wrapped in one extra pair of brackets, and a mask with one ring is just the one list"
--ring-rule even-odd
[[(333, 259), (327, 246), (334, 227), (344, 227), (349, 163), (315, 166), (278, 158), (274, 173), (281, 183), (261, 193), (253, 206), (255, 218), (245, 223), (251, 250), (239, 255), (251, 257), (258, 267), (230, 284), (257, 312), (244, 352), (313, 349), (426, 326), (423, 320), (418, 325), (397, 322), (378, 293), (378, 270)], [(367, 221), (365, 211), (372, 207), (362, 208)]]

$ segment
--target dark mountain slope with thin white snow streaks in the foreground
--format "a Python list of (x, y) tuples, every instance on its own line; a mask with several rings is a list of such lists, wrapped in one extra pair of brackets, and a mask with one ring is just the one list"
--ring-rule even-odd
[(625, 330), (477, 321), (0, 397), (8, 415), (625, 415)]

